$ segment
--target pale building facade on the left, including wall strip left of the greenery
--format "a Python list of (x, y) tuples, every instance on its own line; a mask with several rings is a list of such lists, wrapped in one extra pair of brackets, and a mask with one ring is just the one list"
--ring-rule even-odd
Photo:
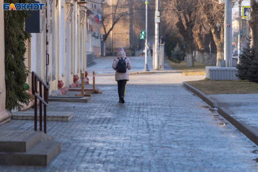
[[(41, 3), (45, 1), (41, 0)], [(3, 0), (0, 1), (2, 6)], [(86, 2), (77, 0), (46, 1), (41, 12), (42, 33), (31, 33), (26, 40), (25, 65), (29, 72), (35, 71), (49, 86), (49, 96), (65, 94), (69, 87), (80, 87), (81, 74), (86, 71), (87, 40)], [(0, 8), (0, 123), (1, 111), (5, 110), (5, 46), (4, 46), (4, 12)], [(25, 25), (26, 28), (26, 25)], [(84, 82), (84, 81), (83, 81)], [(31, 93), (31, 75), (27, 78)], [(22, 104), (22, 103), (21, 103)], [(25, 110), (34, 105), (24, 104)], [(8, 114), (8, 113), (7, 113)], [(4, 117), (1, 117), (4, 116)]]

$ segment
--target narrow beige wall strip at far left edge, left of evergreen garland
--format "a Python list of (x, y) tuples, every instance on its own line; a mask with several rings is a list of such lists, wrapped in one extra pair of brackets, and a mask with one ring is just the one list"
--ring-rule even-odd
[[(0, 0), (2, 7), (4, 0)], [(5, 37), (4, 37), (4, 10), (0, 8), (0, 111), (5, 109)]]

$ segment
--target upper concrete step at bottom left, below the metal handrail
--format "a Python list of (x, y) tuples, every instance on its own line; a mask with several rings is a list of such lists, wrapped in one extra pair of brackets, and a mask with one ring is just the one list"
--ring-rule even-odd
[(53, 139), (42, 131), (0, 130), (0, 152), (27, 152), (39, 142)]

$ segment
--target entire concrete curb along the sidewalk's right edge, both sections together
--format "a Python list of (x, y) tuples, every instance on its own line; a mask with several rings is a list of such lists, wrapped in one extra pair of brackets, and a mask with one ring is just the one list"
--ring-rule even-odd
[[(199, 89), (194, 88), (193, 86), (189, 85), (188, 83), (183, 82), (183, 86), (193, 93), (195, 93), (199, 98), (204, 100), (209, 106), (218, 107), (218, 103), (214, 101), (212, 98), (207, 96), (206, 94), (202, 93)], [(212, 107), (211, 106), (211, 107)], [(212, 107), (212, 108), (214, 108)], [(248, 125), (245, 121), (241, 118), (230, 112), (224, 107), (218, 107), (217, 113), (222, 116), (225, 120), (231, 123), (233, 126), (236, 127), (241, 133), (243, 133), (247, 138), (249, 138), (253, 143), (258, 145), (258, 130), (250, 125)]]

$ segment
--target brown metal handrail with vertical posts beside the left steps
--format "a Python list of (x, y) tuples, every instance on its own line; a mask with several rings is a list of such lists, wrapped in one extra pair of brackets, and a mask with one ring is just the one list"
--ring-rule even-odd
[[(39, 95), (37, 93), (37, 83), (39, 81)], [(44, 133), (46, 133), (46, 106), (48, 106), (48, 92), (49, 88), (42, 81), (42, 79), (35, 73), (31, 73), (31, 88), (34, 95), (34, 130), (37, 131), (37, 101), (39, 99), (39, 130), (42, 131), (42, 103), (44, 104)], [(44, 86), (44, 99), (42, 99), (42, 85)]]

